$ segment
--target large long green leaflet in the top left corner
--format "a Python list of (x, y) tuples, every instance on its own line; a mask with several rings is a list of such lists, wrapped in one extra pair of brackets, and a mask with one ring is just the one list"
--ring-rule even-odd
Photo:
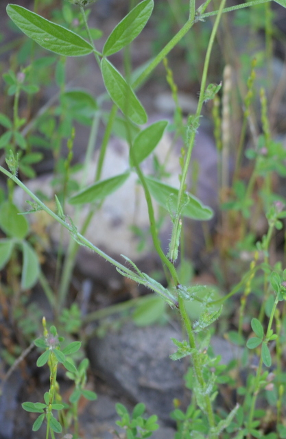
[(91, 54), (93, 47), (81, 36), (19, 5), (8, 5), (7, 14), (21, 31), (44, 49), (63, 56)]

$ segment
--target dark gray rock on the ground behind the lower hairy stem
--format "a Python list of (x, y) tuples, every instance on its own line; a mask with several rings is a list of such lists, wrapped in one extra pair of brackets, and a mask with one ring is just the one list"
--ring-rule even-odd
[[(148, 412), (157, 414), (165, 423), (174, 410), (174, 398), (180, 399), (183, 405), (189, 403), (183, 380), (189, 359), (169, 358), (176, 351), (171, 337), (182, 340), (181, 332), (173, 327), (134, 327), (129, 323), (104, 339), (91, 340), (88, 346), (92, 368), (116, 392), (134, 403), (145, 403)], [(239, 348), (220, 337), (213, 337), (211, 345), (215, 355), (222, 356), (222, 364), (239, 356)]]

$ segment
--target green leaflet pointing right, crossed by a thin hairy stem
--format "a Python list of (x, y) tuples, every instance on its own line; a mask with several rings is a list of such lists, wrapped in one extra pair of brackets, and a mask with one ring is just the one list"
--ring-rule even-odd
[[(173, 200), (176, 204), (178, 200), (178, 189), (166, 185), (159, 180), (156, 180), (152, 177), (145, 176), (145, 180), (147, 182), (148, 189), (150, 190), (151, 195), (155, 198), (156, 202), (160, 204), (160, 206), (165, 207), (167, 209), (168, 201), (171, 198), (171, 194), (173, 194)], [(185, 200), (188, 202), (184, 209), (182, 209), (182, 215), (185, 217), (193, 218), (193, 219), (211, 219), (213, 217), (213, 210), (210, 207), (204, 206), (198, 198), (190, 193), (185, 193)]]

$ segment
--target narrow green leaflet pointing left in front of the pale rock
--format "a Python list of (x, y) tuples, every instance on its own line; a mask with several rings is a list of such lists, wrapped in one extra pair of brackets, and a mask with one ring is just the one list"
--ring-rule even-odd
[(84, 204), (102, 200), (110, 195), (110, 193), (119, 189), (126, 182), (129, 175), (130, 172), (126, 171), (124, 174), (99, 181), (73, 195), (69, 200), (69, 204)]

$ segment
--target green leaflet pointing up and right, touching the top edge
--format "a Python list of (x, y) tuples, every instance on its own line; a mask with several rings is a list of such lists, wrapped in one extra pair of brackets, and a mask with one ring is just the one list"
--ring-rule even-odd
[(110, 56), (130, 44), (138, 36), (152, 14), (153, 0), (141, 1), (112, 30), (104, 45), (104, 56)]

